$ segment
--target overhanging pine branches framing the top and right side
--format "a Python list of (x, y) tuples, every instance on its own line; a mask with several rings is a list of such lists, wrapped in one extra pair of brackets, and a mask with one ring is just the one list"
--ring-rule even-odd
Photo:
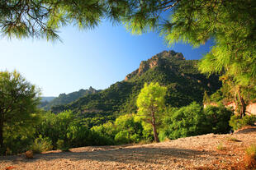
[(12, 0), (1, 1), (0, 11), (2, 34), (10, 37), (58, 39), (63, 25), (94, 28), (107, 18), (133, 33), (157, 30), (170, 45), (214, 39), (201, 71), (225, 73), (255, 90), (254, 0)]

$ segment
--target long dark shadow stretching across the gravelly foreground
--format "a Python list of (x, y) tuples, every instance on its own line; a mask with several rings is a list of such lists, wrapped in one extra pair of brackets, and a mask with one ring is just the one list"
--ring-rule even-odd
[(59, 152), (59, 153), (48, 153), (48, 154), (36, 154), (35, 159), (25, 159), (24, 156), (2, 157), (2, 160), (12, 161), (12, 163), (32, 163), (38, 160), (50, 161), (53, 159), (69, 159), (70, 161), (86, 161), (95, 160), (98, 162), (118, 162), (118, 163), (160, 163), (166, 159), (203, 159), (214, 158), (220, 153), (198, 151), (193, 149), (179, 149), (179, 148), (157, 148), (157, 147), (135, 147), (135, 148), (109, 148), (107, 150), (97, 151), (83, 151), (83, 152)]

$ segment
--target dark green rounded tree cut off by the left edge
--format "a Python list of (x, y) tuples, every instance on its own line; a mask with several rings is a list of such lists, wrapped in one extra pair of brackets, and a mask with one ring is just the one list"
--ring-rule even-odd
[(0, 148), (4, 140), (31, 133), (39, 91), (17, 71), (0, 71)]

